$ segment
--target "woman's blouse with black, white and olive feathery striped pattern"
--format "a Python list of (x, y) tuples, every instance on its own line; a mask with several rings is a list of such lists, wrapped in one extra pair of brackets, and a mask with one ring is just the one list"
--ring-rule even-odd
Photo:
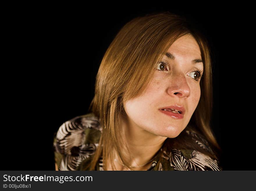
[[(54, 159), (58, 170), (88, 170), (85, 169), (99, 146), (102, 127), (99, 119), (93, 113), (74, 117), (64, 122), (54, 133)], [(207, 141), (202, 136), (186, 130), (200, 147), (211, 151)], [(157, 162), (162, 157), (163, 163)], [(102, 156), (95, 170), (104, 170)], [(152, 165), (147, 170), (222, 170), (218, 159), (190, 149), (159, 149)]]

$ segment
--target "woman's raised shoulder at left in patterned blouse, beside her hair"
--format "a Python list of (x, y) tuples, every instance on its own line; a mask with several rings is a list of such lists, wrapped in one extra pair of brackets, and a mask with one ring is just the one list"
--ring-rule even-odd
[(54, 158), (59, 170), (76, 170), (98, 147), (102, 127), (93, 113), (64, 122), (54, 135)]

